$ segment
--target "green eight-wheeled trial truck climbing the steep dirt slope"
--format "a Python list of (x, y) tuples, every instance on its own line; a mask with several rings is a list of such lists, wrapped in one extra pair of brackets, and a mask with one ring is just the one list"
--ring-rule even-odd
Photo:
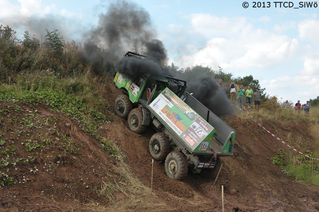
[[(124, 57), (146, 57), (127, 52)], [(184, 91), (186, 81), (171, 76), (136, 82), (116, 73), (114, 84), (122, 90), (115, 100), (115, 113), (128, 119), (131, 131), (143, 133), (152, 126), (149, 143), (152, 157), (165, 160), (169, 178), (181, 180), (188, 170), (212, 169), (219, 157), (232, 156), (236, 132)]]

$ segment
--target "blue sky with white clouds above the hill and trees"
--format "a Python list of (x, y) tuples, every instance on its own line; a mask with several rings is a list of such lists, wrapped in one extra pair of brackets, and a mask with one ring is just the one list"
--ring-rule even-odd
[[(267, 94), (282, 102), (315, 99), (319, 96), (317, 2), (246, 1), (128, 2), (149, 14), (154, 34), (167, 49), (168, 64), (214, 70), (220, 66), (233, 77), (253, 75)], [(83, 42), (84, 34), (99, 24), (101, 14), (114, 2), (0, 0), (0, 24), (10, 26), (18, 37), (27, 30), (41, 39), (45, 29), (58, 29), (65, 41)]]

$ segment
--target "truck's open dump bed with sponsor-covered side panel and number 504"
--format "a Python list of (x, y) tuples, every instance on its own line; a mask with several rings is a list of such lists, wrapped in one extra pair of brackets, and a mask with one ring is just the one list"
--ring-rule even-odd
[(183, 102), (165, 88), (147, 108), (191, 154), (233, 155), (235, 131), (189, 93)]

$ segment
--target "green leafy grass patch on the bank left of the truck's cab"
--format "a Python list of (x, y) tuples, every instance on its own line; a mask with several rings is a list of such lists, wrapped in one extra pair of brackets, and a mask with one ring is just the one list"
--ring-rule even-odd
[(54, 112), (75, 119), (85, 132), (96, 137), (99, 124), (108, 122), (100, 112), (108, 102), (99, 95), (100, 90), (95, 90), (91, 77), (89, 72), (79, 72), (70, 78), (59, 78), (49, 70), (21, 73), (17, 84), (0, 86), (0, 101), (44, 104)]

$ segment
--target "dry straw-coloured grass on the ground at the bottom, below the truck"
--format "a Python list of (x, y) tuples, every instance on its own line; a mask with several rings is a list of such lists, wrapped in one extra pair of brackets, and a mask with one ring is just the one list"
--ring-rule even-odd
[[(116, 147), (116, 146), (114, 146)], [(118, 151), (120, 152), (120, 151)], [(119, 158), (125, 158), (120, 152)], [(151, 189), (145, 186), (134, 174), (129, 167), (118, 160), (115, 166), (112, 166), (112, 174), (108, 172), (110, 167), (103, 167), (103, 172), (108, 173), (108, 181), (103, 181), (95, 192), (102, 200), (106, 200), (109, 204), (100, 204), (99, 202), (91, 202), (85, 205), (90, 211), (175, 211), (176, 208), (162, 201)]]

